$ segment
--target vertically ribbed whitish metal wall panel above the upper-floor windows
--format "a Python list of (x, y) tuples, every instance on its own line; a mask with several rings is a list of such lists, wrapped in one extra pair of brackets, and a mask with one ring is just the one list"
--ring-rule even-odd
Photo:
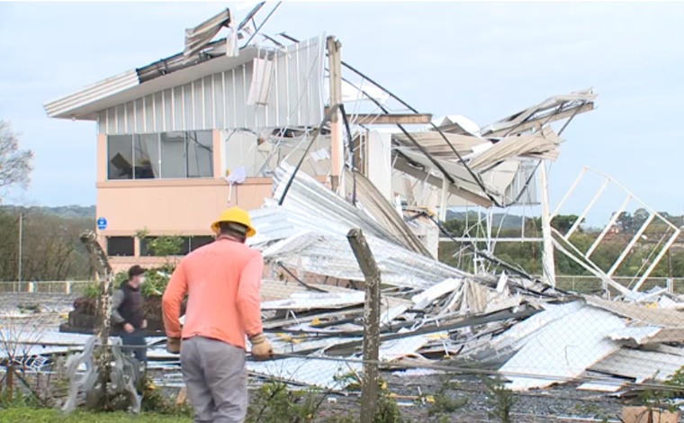
[(129, 103), (130, 109), (117, 106), (118, 112), (117, 107), (101, 112), (100, 130), (132, 134), (318, 125), (323, 119), (324, 40), (317, 37), (288, 46), (286, 52), (266, 53), (274, 60), (266, 105), (247, 105), (254, 67), (249, 62), (149, 94), (135, 100), (135, 107)]

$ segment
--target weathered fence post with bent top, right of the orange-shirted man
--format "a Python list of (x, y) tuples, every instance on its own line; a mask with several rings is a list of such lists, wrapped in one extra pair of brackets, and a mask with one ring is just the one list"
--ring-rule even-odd
[(380, 269), (361, 229), (347, 234), (349, 245), (365, 276), (364, 381), (361, 423), (372, 423), (378, 403), (378, 351), (380, 349)]

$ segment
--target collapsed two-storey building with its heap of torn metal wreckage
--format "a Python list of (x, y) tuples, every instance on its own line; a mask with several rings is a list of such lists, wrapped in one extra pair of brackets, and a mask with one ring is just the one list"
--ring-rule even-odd
[[(610, 178), (571, 229), (551, 227), (576, 184), (552, 210), (545, 163), (559, 157), (567, 125), (594, 109), (592, 90), (479, 127), (413, 109), (344, 63), (334, 37), (295, 40), (252, 25), (226, 11), (188, 30), (183, 52), (45, 104), (50, 117), (97, 122), (98, 235), (112, 265), (157, 263), (140, 230), (181, 235), (187, 253), (211, 242), (221, 210), (249, 210), (249, 242), (267, 265), (264, 327), (284, 356), (247, 367), (290, 383), (344, 390), (339, 374), (361, 367), (365, 277), (350, 229), (363, 230), (381, 271), (385, 365), (477, 367), (499, 371), (514, 390), (577, 383), (603, 392), (662, 382), (684, 365), (684, 302), (642, 290), (680, 229), (624, 190), (617, 210), (635, 201), (649, 217), (611, 268), (595, 265), (615, 220), (589, 248), (572, 233)], [(227, 37), (213, 40), (223, 28)], [(491, 250), (474, 251), (488, 266), (473, 273), (437, 260), (449, 207), (521, 203), (542, 212), (544, 275)], [(634, 284), (617, 283), (654, 220), (667, 229), (662, 242)], [(599, 278), (599, 295), (558, 289), (554, 254)], [(159, 367), (177, 367), (177, 356), (154, 347), (158, 338), (150, 342)]]

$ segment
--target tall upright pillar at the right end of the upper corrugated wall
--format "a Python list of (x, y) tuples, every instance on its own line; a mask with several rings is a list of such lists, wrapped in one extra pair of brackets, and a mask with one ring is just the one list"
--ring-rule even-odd
[[(334, 36), (328, 37), (330, 107), (342, 103), (342, 43)], [(342, 183), (345, 166), (345, 141), (342, 137), (342, 112), (338, 109), (330, 118), (330, 175), (332, 189), (345, 198), (345, 185)]]

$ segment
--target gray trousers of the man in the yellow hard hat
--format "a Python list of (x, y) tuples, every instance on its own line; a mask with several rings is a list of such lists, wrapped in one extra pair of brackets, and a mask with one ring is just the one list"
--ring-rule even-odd
[(247, 414), (245, 350), (215, 339), (183, 340), (181, 367), (194, 423), (242, 423)]

